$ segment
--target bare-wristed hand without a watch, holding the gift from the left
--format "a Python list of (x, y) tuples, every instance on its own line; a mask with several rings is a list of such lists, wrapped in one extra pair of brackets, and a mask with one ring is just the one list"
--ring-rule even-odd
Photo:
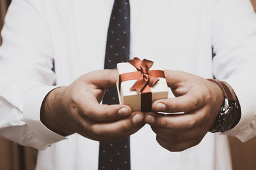
[(129, 106), (99, 104), (106, 87), (113, 86), (115, 70), (92, 71), (68, 87), (52, 90), (41, 109), (42, 123), (58, 134), (75, 132), (97, 141), (125, 138), (143, 127), (143, 113)]

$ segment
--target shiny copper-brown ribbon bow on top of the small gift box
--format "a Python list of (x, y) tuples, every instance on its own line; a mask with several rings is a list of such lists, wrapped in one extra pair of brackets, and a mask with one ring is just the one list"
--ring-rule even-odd
[(137, 57), (128, 61), (132, 66), (136, 67), (138, 71), (140, 71), (140, 76), (137, 78), (138, 80), (134, 83), (130, 90), (136, 90), (139, 94), (145, 88), (146, 85), (152, 87), (159, 81), (159, 78), (149, 74), (149, 69), (153, 65), (154, 62), (151, 60), (143, 59), (142, 61)]

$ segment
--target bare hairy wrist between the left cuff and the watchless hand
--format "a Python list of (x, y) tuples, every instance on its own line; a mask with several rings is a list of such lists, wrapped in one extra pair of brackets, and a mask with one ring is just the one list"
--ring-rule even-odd
[(65, 102), (63, 93), (66, 87), (58, 87), (51, 90), (45, 96), (40, 110), (40, 120), (48, 129), (62, 136), (70, 135), (74, 132), (68, 128), (65, 115)]

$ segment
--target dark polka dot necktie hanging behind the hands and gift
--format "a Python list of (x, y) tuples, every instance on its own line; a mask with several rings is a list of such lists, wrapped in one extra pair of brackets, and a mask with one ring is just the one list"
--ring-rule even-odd
[[(119, 62), (129, 60), (130, 5), (129, 0), (115, 0), (111, 13), (105, 56), (105, 69), (116, 69)], [(106, 90), (103, 104), (118, 104), (116, 87)], [(130, 164), (130, 139), (100, 143), (99, 169), (128, 170)]]

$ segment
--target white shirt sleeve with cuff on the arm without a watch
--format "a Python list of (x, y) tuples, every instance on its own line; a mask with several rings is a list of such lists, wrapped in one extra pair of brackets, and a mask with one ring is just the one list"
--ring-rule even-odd
[(0, 135), (40, 150), (65, 137), (40, 122), (40, 107), (56, 77), (54, 50), (42, 6), (13, 0), (0, 47)]

